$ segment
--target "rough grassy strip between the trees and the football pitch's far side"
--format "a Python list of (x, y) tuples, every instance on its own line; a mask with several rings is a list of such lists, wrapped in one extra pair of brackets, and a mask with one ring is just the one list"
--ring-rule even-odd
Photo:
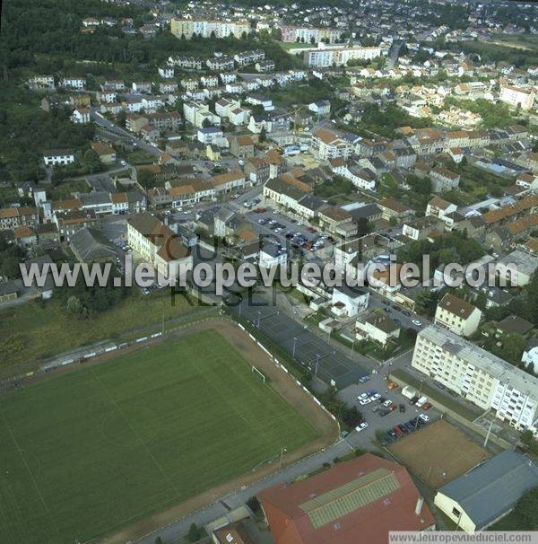
[(39, 361), (88, 344), (117, 338), (133, 329), (155, 325), (193, 312), (181, 297), (171, 305), (169, 290), (144, 296), (138, 290), (111, 310), (88, 319), (68, 315), (54, 296), (44, 305), (24, 303), (0, 311), (0, 369)]

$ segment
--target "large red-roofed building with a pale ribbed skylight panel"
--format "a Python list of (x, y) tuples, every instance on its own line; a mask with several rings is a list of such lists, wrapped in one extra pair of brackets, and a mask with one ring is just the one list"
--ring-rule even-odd
[(433, 531), (404, 467), (371, 453), (258, 498), (276, 544), (386, 544), (389, 531)]

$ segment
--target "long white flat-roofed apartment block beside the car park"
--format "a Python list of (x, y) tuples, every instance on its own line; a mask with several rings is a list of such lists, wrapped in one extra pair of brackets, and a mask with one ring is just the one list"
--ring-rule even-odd
[(538, 434), (538, 379), (453, 332), (421, 330), (412, 367), (510, 426)]

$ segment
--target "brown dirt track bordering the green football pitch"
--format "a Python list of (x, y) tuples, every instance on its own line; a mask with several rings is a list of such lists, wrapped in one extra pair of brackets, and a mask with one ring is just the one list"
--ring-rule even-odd
[[(254, 364), (256, 368), (265, 373), (269, 378), (267, 387), (272, 387), (283, 399), (288, 402), (291, 407), (295, 408), (301, 417), (304, 417), (308, 423), (317, 430), (318, 438), (308, 444), (305, 444), (294, 452), (287, 453), (283, 457), (283, 465), (290, 465), (299, 461), (312, 453), (316, 453), (326, 445), (333, 443), (338, 436), (338, 426), (335, 424), (325, 410), (319, 408), (316, 402), (302, 390), (295, 379), (290, 374), (282, 371), (282, 368), (276, 366), (271, 357), (265, 351), (257, 346), (247, 332), (229, 320), (204, 320), (195, 322), (194, 324), (186, 325), (176, 331), (170, 332), (161, 338), (152, 340), (152, 344), (165, 342), (171, 338), (181, 338), (195, 332), (201, 332), (207, 329), (216, 329), (224, 336), (232, 346), (239, 350), (241, 355), (245, 357), (249, 364)], [(103, 355), (99, 359), (92, 360), (91, 363), (85, 364), (103, 364), (106, 361), (113, 360), (117, 355), (125, 355), (136, 349), (148, 346), (148, 342), (139, 346), (130, 346), (121, 352), (116, 352), (114, 355)], [(241, 487), (247, 487), (256, 481), (272, 474), (278, 465), (276, 462), (260, 467), (255, 473), (248, 472), (239, 478), (234, 478), (219, 487), (214, 487), (204, 493), (194, 496), (180, 505), (176, 505), (161, 513), (156, 513), (151, 517), (137, 522), (134, 525), (127, 527), (125, 530), (117, 532), (109, 536), (104, 541), (108, 543), (125, 543), (128, 540), (136, 540), (143, 535), (155, 531), (162, 526), (168, 525), (180, 518), (187, 516), (200, 510), (205, 505), (213, 504), (221, 496), (226, 496)]]

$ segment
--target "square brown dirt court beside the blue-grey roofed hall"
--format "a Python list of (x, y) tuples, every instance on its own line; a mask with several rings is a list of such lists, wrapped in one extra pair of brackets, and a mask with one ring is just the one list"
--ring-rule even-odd
[(490, 458), (490, 453), (445, 420), (398, 440), (388, 450), (436, 489)]

